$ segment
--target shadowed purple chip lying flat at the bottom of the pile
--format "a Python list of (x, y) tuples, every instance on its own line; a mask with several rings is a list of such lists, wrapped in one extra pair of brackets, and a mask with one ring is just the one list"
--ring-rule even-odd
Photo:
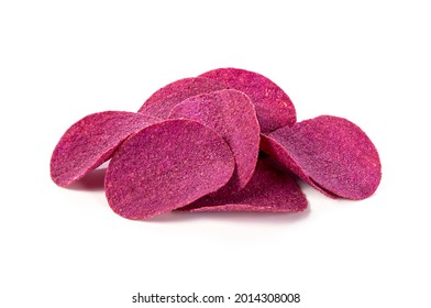
[(261, 156), (243, 190), (222, 198), (203, 197), (180, 210), (296, 212), (306, 208), (306, 196), (290, 173), (270, 157)]

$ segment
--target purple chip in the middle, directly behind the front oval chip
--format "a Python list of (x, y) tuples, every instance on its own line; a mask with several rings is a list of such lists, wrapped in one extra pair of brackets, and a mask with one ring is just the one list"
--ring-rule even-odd
[(250, 98), (239, 90), (190, 97), (174, 107), (170, 119), (196, 120), (218, 132), (231, 147), (235, 170), (217, 196), (240, 191), (251, 179), (259, 148), (259, 125)]

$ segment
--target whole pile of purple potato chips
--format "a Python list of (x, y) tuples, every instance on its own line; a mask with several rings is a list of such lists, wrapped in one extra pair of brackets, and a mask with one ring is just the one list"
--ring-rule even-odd
[(298, 212), (307, 208), (298, 177), (353, 200), (382, 178), (357, 125), (333, 116), (297, 122), (280, 87), (237, 68), (174, 81), (139, 112), (82, 118), (57, 143), (51, 177), (67, 187), (109, 160), (109, 206), (136, 220), (172, 210)]

